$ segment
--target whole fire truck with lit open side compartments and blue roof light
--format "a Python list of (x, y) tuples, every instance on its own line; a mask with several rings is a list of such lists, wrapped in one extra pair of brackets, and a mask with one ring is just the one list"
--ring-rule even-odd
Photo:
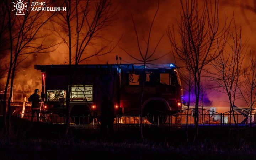
[[(72, 116), (101, 115), (103, 96), (114, 104), (115, 114), (161, 117), (182, 110), (183, 91), (178, 68), (143, 68), (134, 64), (35, 65), (42, 73), (44, 109), (65, 114), (66, 94), (72, 73), (70, 108)], [(159, 121), (159, 120), (158, 120)]]

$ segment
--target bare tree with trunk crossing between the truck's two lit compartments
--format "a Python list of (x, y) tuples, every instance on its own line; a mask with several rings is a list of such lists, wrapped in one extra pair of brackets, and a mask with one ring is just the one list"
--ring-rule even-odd
[[(115, 46), (111, 47), (111, 42), (107, 45), (102, 45), (97, 41), (103, 38), (102, 30), (113, 20), (115, 12), (111, 9), (110, 0), (64, 0), (62, 6), (66, 8), (66, 11), (59, 12), (54, 22), (61, 29), (55, 27), (55, 33), (67, 45), (69, 54), (68, 86), (66, 89), (68, 91), (66, 95), (66, 134), (68, 134), (70, 94), (76, 67), (81, 62), (92, 57), (112, 52)], [(72, 64), (74, 67), (72, 67)]]

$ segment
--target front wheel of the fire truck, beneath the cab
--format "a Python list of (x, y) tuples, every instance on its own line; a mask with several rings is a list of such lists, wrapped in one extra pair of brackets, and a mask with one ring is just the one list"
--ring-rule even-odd
[(166, 106), (162, 101), (149, 102), (143, 112), (151, 124), (163, 124), (167, 120)]

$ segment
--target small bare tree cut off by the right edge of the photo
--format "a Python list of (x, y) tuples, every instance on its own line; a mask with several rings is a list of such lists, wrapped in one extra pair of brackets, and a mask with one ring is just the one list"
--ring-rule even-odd
[(250, 127), (252, 126), (252, 110), (256, 105), (256, 56), (250, 53), (249, 66), (243, 70), (244, 81), (239, 86), (242, 99), (250, 108)]

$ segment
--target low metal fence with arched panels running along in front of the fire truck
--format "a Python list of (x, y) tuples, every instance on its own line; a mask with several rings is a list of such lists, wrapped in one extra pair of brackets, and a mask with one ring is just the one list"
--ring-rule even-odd
[[(186, 109), (177, 112), (176, 114), (166, 115), (150, 115), (144, 116), (137, 115), (116, 115), (114, 116), (113, 126), (116, 129), (121, 128), (172, 128), (172, 127), (194, 127), (196, 123), (196, 117), (198, 114), (199, 126), (205, 127), (224, 127), (224, 126), (250, 126), (250, 119), (252, 119), (252, 125), (255, 125), (256, 120), (255, 109), (238, 109), (233, 112), (218, 113), (211, 110), (199, 109), (196, 113), (195, 109)], [(31, 112), (17, 115), (20, 118), (31, 120)], [(69, 119), (70, 126), (74, 128), (84, 129), (98, 129), (101, 126), (98, 115), (92, 116), (71, 116)], [(34, 118), (36, 121), (36, 116)], [(66, 124), (66, 115), (58, 112), (41, 111), (40, 121), (53, 124)]]

